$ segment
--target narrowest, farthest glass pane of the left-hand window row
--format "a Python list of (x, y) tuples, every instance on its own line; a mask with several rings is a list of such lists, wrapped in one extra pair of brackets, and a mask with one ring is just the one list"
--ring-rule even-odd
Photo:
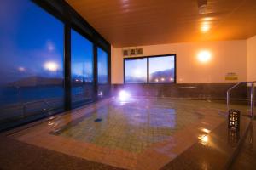
[(98, 54), (98, 83), (108, 83), (108, 54), (101, 48), (97, 48)]

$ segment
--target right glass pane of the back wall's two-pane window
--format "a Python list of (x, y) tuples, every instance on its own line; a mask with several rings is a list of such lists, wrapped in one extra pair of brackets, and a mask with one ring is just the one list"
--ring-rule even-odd
[(173, 55), (149, 58), (149, 82), (175, 82), (175, 57)]

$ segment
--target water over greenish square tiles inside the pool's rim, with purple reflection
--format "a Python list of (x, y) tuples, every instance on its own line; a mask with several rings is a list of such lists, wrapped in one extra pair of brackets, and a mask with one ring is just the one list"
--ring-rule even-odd
[[(102, 122), (95, 122), (98, 117)], [(61, 127), (61, 131), (55, 134), (138, 153), (200, 118), (201, 115), (191, 107), (172, 105), (168, 100), (131, 100), (125, 104), (110, 102), (91, 112), (90, 116)]]

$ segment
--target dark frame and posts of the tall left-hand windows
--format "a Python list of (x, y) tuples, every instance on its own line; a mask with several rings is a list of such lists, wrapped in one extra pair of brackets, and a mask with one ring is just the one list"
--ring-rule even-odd
[[(52, 0), (31, 0), (32, 3), (37, 5), (39, 8), (44, 10), (56, 20), (61, 21), (63, 24), (63, 88), (64, 88), (64, 111), (70, 111), (72, 108), (71, 100), (71, 30), (77, 31), (82, 37), (93, 44), (93, 87), (94, 96), (91, 102), (96, 102), (98, 100), (97, 91), (100, 84), (97, 83), (97, 48), (102, 48), (108, 54), (108, 88), (110, 91), (111, 85), (111, 44), (104, 38), (100, 33), (98, 33), (90, 24), (84, 20), (84, 18), (75, 11), (66, 1), (52, 1)], [(106, 84), (105, 84), (106, 85)], [(108, 95), (110, 96), (110, 95)], [(108, 97), (106, 95), (106, 97)], [(89, 104), (89, 103), (88, 103)], [(87, 105), (87, 104), (84, 104)], [(63, 111), (57, 111), (53, 115), (63, 113)], [(53, 116), (50, 115), (50, 116)], [(45, 116), (48, 117), (48, 116)], [(44, 117), (43, 117), (44, 118)], [(20, 119), (20, 122), (10, 125), (6, 125), (0, 132), (13, 127), (19, 127), (29, 122), (35, 122), (43, 118), (35, 118), (32, 120)]]

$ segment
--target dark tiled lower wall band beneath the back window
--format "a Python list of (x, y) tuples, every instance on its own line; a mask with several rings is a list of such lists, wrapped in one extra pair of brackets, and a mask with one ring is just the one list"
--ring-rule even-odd
[[(185, 83), (185, 84), (113, 84), (112, 94), (121, 89), (134, 96), (170, 97), (181, 99), (226, 99), (227, 90), (232, 83)], [(232, 91), (232, 99), (246, 99), (247, 85)]]

